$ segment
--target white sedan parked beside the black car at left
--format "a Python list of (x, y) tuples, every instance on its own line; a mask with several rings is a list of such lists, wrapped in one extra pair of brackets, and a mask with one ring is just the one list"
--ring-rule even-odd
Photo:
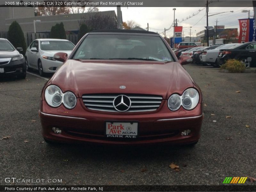
[(40, 76), (54, 73), (62, 62), (54, 59), (57, 52), (71, 53), (75, 45), (65, 39), (36, 39), (28, 47), (25, 55), (26, 68), (37, 69)]

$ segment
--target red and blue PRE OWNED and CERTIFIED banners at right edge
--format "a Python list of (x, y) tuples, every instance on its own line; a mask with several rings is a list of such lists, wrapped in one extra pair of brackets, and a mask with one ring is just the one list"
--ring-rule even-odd
[(256, 27), (254, 19), (239, 19), (240, 33), (238, 43), (255, 41)]

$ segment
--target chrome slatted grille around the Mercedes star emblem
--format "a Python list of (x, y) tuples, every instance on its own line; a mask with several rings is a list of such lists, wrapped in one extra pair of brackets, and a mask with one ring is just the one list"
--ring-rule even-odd
[(155, 111), (163, 98), (158, 95), (145, 94), (86, 94), (83, 102), (86, 108), (96, 111), (119, 112), (114, 108), (113, 101), (118, 95), (125, 95), (131, 100), (131, 107), (125, 112)]

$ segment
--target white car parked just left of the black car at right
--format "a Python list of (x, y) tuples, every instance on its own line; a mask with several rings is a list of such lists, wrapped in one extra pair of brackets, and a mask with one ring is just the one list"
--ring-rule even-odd
[(230, 44), (224, 44), (216, 49), (207, 50), (202, 52), (202, 62), (210, 63), (212, 65), (215, 64), (217, 57), (219, 55), (220, 49), (232, 49), (233, 46), (237, 45), (239, 43), (230, 43)]

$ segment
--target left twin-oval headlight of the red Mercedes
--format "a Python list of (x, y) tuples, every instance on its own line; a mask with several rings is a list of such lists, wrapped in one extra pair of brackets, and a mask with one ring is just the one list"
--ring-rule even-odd
[(56, 85), (50, 85), (45, 89), (44, 97), (51, 107), (59, 107), (62, 103), (68, 109), (76, 106), (76, 96), (72, 92), (62, 93)]

